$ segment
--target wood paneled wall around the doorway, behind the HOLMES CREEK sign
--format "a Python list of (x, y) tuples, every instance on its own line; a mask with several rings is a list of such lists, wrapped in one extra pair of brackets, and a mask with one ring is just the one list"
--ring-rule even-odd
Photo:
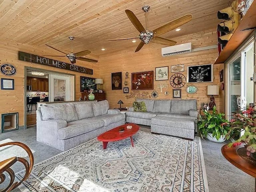
[[(10, 63), (14, 65), (17, 69), (17, 73), (14, 76), (8, 77), (0, 73), (0, 78), (11, 78), (14, 79), (14, 90), (0, 90), (0, 114), (4, 113), (19, 113), (19, 126), (24, 125), (24, 67), (33, 67), (44, 70), (50, 70), (55, 72), (62, 72), (66, 74), (74, 74), (75, 75), (75, 97), (76, 100), (80, 97), (80, 76), (88, 76), (98, 78), (99, 76), (99, 64), (98, 63), (90, 63), (90, 62), (76, 62), (78, 66), (84, 66), (90, 69), (93, 69), (93, 75), (88, 75), (79, 72), (72, 72), (64, 69), (54, 68), (51, 66), (44, 66), (40, 64), (34, 64), (30, 62), (20, 61), (18, 60), (18, 51), (28, 52), (35, 55), (43, 56), (43, 55), (57, 55), (57, 52), (52, 51), (50, 48), (46, 48), (46, 46), (36, 47), (36, 46), (28, 46), (24, 44), (18, 43), (4, 43), (0, 44), (0, 65), (4, 63)], [(95, 56), (91, 56), (90, 58), (97, 59)], [(55, 60), (60, 60), (63, 62), (69, 62), (67, 58), (53, 58)], [(0, 117), (1, 118), (1, 117)]]

